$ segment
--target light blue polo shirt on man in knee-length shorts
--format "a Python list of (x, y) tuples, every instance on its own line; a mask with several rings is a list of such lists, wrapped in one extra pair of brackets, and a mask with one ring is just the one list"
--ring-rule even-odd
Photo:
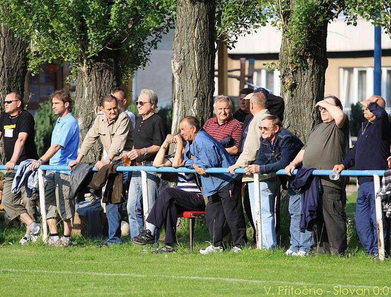
[[(77, 159), (79, 125), (71, 113), (57, 119), (50, 142), (50, 145), (53, 144), (61, 145), (61, 148), (50, 158), (49, 165), (67, 165), (69, 161)], [(70, 171), (64, 170), (56, 172), (70, 174)]]

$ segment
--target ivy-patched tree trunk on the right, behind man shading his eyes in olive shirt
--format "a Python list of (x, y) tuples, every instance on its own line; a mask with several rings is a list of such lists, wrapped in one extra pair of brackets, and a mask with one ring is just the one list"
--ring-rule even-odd
[(280, 71), (281, 94), (285, 100), (284, 127), (304, 143), (320, 121), (315, 104), (323, 99), (325, 92), (327, 24), (324, 21), (319, 28), (307, 28), (316, 33), (309, 34), (311, 38), (307, 40), (303, 67), (296, 67), (293, 71), (290, 71), (289, 41), (282, 34)]

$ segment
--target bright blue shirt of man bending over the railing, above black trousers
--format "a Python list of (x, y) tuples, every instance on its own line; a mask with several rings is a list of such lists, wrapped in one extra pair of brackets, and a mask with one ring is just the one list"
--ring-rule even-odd
[[(191, 156), (194, 160), (191, 160)], [(200, 129), (193, 142), (188, 141), (185, 148), (185, 167), (193, 169), (195, 163), (203, 169), (224, 167), (235, 164), (235, 160), (215, 138), (204, 129)], [(202, 190), (205, 196), (215, 194), (219, 189), (230, 183), (238, 175), (230, 173), (201, 175)]]

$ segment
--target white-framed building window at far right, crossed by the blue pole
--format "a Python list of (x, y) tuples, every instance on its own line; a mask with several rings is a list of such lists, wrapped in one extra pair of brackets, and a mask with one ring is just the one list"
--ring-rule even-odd
[[(391, 67), (382, 68), (382, 97), (391, 107)], [(373, 95), (373, 67), (340, 68), (340, 99), (345, 108)]]

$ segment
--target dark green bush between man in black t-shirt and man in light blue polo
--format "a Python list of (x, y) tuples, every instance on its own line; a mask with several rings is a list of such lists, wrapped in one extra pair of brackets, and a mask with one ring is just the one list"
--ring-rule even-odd
[(41, 157), (50, 147), (52, 131), (58, 116), (53, 113), (51, 100), (45, 100), (39, 104), (34, 116), (35, 119), (35, 145), (38, 155)]

